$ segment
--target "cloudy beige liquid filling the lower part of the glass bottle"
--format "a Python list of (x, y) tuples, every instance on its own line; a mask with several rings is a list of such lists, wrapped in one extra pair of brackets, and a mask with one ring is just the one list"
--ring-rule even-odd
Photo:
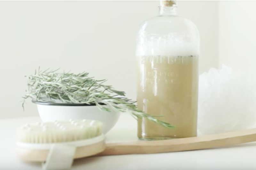
[(137, 56), (139, 109), (173, 129), (142, 118), (138, 137), (145, 140), (194, 137), (197, 135), (198, 57)]

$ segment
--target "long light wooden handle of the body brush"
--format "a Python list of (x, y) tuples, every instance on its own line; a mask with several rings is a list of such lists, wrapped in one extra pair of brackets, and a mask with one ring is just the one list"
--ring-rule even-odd
[(107, 143), (99, 155), (145, 154), (210, 149), (256, 141), (256, 129), (157, 141)]

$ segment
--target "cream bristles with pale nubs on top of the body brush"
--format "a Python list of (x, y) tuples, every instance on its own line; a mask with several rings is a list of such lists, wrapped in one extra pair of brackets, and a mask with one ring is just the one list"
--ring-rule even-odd
[(102, 134), (102, 123), (92, 120), (37, 122), (21, 126), (17, 141), (23, 143), (58, 143), (89, 139)]

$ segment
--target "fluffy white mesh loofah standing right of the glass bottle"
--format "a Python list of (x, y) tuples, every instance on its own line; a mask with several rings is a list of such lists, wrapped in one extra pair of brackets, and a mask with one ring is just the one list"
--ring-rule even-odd
[(256, 83), (246, 73), (222, 65), (199, 77), (198, 133), (252, 128), (256, 123)]

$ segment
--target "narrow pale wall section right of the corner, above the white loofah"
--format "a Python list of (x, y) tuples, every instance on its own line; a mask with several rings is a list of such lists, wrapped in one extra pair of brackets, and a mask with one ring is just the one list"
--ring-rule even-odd
[(256, 1), (221, 1), (219, 10), (220, 64), (252, 77), (256, 72)]

